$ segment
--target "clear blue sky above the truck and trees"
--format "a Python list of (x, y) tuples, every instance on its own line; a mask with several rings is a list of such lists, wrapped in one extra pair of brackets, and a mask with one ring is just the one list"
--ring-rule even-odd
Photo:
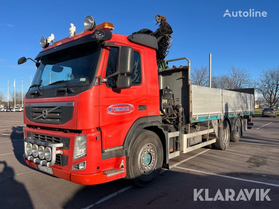
[[(156, 2), (161, 2), (157, 4)], [(208, 65), (212, 72), (227, 72), (231, 65), (247, 69), (254, 77), (279, 65), (279, 2), (277, 1), (2, 1), (0, 13), (0, 91), (24, 91), (36, 67), (32, 61), (17, 65), (22, 57), (35, 58), (42, 36), (55, 41), (69, 36), (70, 23), (77, 32), (92, 15), (97, 24), (111, 22), (114, 33), (130, 35), (142, 28), (156, 30), (155, 15), (167, 17), (174, 40), (167, 59), (187, 56), (191, 67)], [(232, 11), (266, 11), (267, 17), (223, 17)]]

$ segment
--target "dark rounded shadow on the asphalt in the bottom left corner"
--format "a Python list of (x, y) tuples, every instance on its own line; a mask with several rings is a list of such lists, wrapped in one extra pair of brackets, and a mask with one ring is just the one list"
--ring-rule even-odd
[(25, 186), (15, 180), (14, 170), (6, 161), (0, 161), (1, 208), (33, 208)]

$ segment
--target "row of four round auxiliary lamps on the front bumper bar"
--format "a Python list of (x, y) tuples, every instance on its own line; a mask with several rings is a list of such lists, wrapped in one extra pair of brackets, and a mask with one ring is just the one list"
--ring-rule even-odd
[(39, 157), (40, 159), (51, 160), (51, 148), (38, 146), (36, 144), (27, 143), (26, 151), (28, 155), (33, 155), (33, 157)]

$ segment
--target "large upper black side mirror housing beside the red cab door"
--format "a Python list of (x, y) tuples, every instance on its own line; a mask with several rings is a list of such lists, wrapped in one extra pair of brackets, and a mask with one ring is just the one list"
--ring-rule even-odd
[(134, 50), (130, 46), (121, 46), (119, 50), (119, 73), (120, 75), (131, 74), (133, 71)]

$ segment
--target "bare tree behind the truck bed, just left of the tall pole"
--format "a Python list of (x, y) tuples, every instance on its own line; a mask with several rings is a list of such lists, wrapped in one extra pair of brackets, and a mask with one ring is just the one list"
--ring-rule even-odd
[(191, 72), (191, 83), (193, 85), (208, 86), (209, 85), (209, 71), (207, 66), (201, 65)]

